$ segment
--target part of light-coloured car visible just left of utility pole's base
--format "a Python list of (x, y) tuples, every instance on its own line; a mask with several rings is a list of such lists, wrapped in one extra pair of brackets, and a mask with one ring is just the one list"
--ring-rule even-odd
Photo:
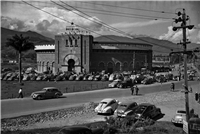
[(175, 125), (182, 125), (183, 124), (183, 120), (186, 120), (186, 111), (185, 110), (177, 110), (176, 114), (174, 115), (174, 117), (172, 118), (172, 123), (174, 123)]

